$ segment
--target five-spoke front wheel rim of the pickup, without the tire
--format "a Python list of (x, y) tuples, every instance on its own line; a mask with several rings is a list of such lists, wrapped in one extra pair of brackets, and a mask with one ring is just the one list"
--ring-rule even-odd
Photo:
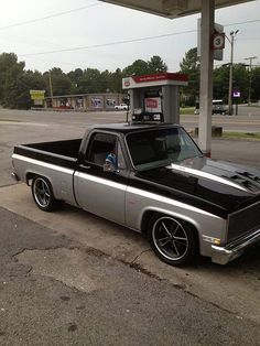
[(172, 217), (162, 216), (154, 223), (152, 238), (158, 251), (169, 260), (180, 260), (188, 250), (188, 236)]

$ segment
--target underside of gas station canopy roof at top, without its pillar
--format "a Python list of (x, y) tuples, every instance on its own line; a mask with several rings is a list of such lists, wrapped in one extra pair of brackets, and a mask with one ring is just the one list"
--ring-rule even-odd
[[(207, 0), (106, 0), (104, 2), (173, 19), (201, 12), (203, 1)], [(252, 0), (215, 0), (215, 9), (248, 1)]]

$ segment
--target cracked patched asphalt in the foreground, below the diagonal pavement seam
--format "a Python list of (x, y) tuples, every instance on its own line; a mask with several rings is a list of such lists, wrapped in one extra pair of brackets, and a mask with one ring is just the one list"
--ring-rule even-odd
[(1, 345), (260, 345), (259, 324), (0, 207)]

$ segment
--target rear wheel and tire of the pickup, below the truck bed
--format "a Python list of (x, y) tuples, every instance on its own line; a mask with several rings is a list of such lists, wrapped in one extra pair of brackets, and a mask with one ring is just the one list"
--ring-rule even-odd
[(32, 195), (36, 206), (44, 212), (55, 210), (61, 201), (54, 197), (52, 184), (44, 176), (35, 176), (32, 181)]

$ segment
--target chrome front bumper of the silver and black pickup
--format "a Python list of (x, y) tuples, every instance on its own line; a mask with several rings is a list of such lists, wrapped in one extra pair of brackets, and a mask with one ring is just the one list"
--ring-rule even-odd
[(246, 248), (258, 241), (260, 241), (260, 228), (228, 244), (226, 247), (212, 245), (212, 261), (218, 264), (227, 264), (239, 257)]

